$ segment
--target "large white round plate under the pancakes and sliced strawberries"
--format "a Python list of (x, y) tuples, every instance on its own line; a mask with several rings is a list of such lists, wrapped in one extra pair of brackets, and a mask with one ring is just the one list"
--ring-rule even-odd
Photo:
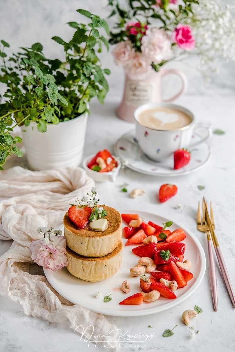
[[(119, 209), (119, 211), (124, 214), (139, 214), (145, 222), (152, 221), (158, 225), (169, 221), (169, 219), (161, 216), (133, 209)], [(125, 226), (127, 225), (123, 225), (123, 227)], [(43, 268), (44, 273), (47, 280), (59, 294), (70, 302), (90, 309), (93, 312), (115, 316), (140, 316), (161, 312), (162, 310), (176, 306), (176, 304), (190, 296), (197, 289), (205, 274), (206, 260), (201, 244), (192, 232), (177, 222), (173, 222), (170, 229), (173, 231), (178, 227), (182, 227), (186, 233), (184, 257), (185, 259), (190, 259), (192, 262), (192, 269), (190, 271), (193, 274), (193, 278), (188, 282), (186, 287), (174, 291), (177, 296), (174, 300), (160, 296), (157, 301), (144, 302), (137, 306), (119, 305), (126, 297), (137, 292), (142, 292), (139, 285), (140, 278), (130, 275), (130, 268), (138, 264), (139, 257), (132, 253), (132, 249), (138, 245), (124, 246), (121, 268), (114, 276), (100, 282), (88, 282), (78, 279), (71, 275), (66, 268), (55, 272)], [(122, 240), (124, 244), (127, 241), (125, 238), (122, 238)], [(147, 275), (150, 276), (150, 274)], [(124, 280), (128, 280), (131, 284), (132, 290), (129, 294), (123, 293), (120, 289), (121, 283)], [(101, 291), (102, 298), (95, 298), (94, 293), (96, 290)], [(103, 297), (110, 294), (112, 301), (103, 302)]]

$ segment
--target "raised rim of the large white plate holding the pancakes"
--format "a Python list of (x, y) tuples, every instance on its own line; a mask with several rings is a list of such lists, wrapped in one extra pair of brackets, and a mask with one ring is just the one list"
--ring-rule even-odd
[[(142, 213), (146, 213), (148, 215), (154, 215), (154, 216), (160, 216), (164, 219), (167, 220), (167, 218), (165, 218), (165, 216), (162, 216), (160, 214), (154, 214), (154, 213), (150, 213), (150, 212), (144, 212), (142, 210), (139, 209), (125, 209), (125, 208), (118, 208), (118, 211), (121, 210), (121, 212), (142, 212)], [(168, 221), (168, 220), (167, 220)], [(199, 275), (198, 278), (196, 279), (195, 283), (192, 285), (192, 287), (186, 291), (182, 296), (177, 297), (175, 300), (171, 300), (169, 303), (163, 304), (162, 306), (159, 307), (155, 307), (155, 308), (150, 308), (150, 309), (146, 309), (146, 310), (139, 310), (139, 311), (121, 311), (121, 310), (112, 310), (112, 309), (103, 309), (103, 308), (96, 308), (96, 307), (91, 307), (89, 304), (87, 303), (82, 303), (82, 302), (78, 302), (77, 300), (75, 300), (72, 296), (70, 296), (69, 293), (65, 292), (64, 290), (62, 290), (59, 285), (57, 284), (57, 281), (55, 280), (55, 278), (53, 277), (53, 271), (51, 269), (46, 269), (43, 267), (43, 271), (44, 274), (47, 278), (47, 280), (49, 281), (49, 283), (52, 285), (52, 287), (64, 298), (66, 298), (68, 301), (70, 301), (71, 303), (77, 304), (78, 306), (81, 306), (82, 308), (85, 309), (89, 309), (92, 312), (95, 313), (100, 313), (100, 314), (104, 314), (104, 315), (112, 315), (112, 316), (142, 316), (142, 315), (149, 315), (149, 314), (154, 314), (154, 313), (159, 313), (162, 312), (164, 310), (170, 309), (174, 306), (176, 306), (177, 304), (181, 303), (182, 301), (184, 301), (186, 298), (188, 298), (197, 288), (198, 286), (201, 284), (202, 279), (205, 275), (205, 270), (206, 270), (206, 258), (205, 258), (205, 252), (203, 250), (203, 247), (201, 245), (201, 243), (199, 242), (199, 240), (197, 239), (197, 237), (190, 231), (188, 230), (188, 228), (186, 228), (185, 226), (183, 226), (182, 224), (180, 224), (178, 221), (174, 221), (173, 219), (171, 220), (173, 221), (174, 224), (176, 224), (179, 227), (182, 227), (183, 230), (185, 230), (190, 237), (195, 241), (197, 248), (199, 250), (200, 256), (201, 256), (201, 269), (199, 271)]]

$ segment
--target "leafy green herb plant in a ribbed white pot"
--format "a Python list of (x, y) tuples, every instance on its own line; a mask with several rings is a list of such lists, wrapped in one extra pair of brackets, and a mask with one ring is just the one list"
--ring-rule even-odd
[(69, 22), (76, 31), (68, 43), (52, 38), (64, 46), (64, 62), (45, 58), (40, 43), (7, 58), (5, 48), (9, 44), (1, 41), (0, 82), (7, 85), (7, 101), (0, 104), (0, 138), (5, 143), (0, 141), (1, 167), (10, 153), (22, 156), (15, 146), (20, 138), (12, 140), (9, 134), (15, 125), (21, 127), (31, 169), (77, 166), (81, 162), (89, 101), (97, 96), (103, 104), (108, 92), (104, 74), (110, 71), (102, 70), (97, 52), (101, 52), (102, 42), (109, 48), (98, 29), (103, 27), (108, 34), (109, 28), (105, 20), (89, 11), (77, 12), (90, 23)]

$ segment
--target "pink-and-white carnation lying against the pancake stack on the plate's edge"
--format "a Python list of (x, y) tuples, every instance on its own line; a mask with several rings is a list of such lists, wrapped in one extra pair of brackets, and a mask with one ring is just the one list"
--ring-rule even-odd
[(64, 236), (53, 236), (50, 240), (32, 241), (30, 244), (31, 258), (35, 263), (53, 271), (68, 265), (66, 257), (66, 239)]

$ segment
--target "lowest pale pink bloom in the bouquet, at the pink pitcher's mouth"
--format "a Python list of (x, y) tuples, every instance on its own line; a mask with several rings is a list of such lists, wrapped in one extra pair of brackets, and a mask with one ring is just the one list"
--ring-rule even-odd
[(133, 80), (144, 80), (151, 70), (151, 60), (141, 52), (135, 52), (134, 57), (126, 65), (126, 72)]

